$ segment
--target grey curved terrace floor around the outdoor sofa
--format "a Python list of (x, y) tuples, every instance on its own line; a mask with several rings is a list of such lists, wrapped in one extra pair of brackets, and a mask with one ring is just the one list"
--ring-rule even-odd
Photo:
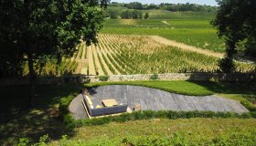
[[(210, 110), (233, 111), (237, 113), (247, 112), (239, 101), (220, 98), (218, 96), (185, 96), (169, 93), (160, 89), (151, 89), (139, 86), (111, 85), (102, 86), (90, 90), (93, 106), (102, 105), (102, 99), (116, 99), (120, 104), (128, 104), (133, 109), (135, 103), (141, 105), (142, 110)], [(74, 119), (87, 118), (79, 95), (69, 105)]]

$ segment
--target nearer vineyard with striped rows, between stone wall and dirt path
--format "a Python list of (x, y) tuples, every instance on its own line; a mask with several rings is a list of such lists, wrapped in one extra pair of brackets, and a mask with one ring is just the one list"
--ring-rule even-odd
[[(100, 34), (99, 43), (81, 44), (72, 59), (81, 74), (131, 75), (219, 72), (218, 57), (160, 44), (149, 36)], [(236, 62), (237, 72), (253, 72), (254, 64)]]

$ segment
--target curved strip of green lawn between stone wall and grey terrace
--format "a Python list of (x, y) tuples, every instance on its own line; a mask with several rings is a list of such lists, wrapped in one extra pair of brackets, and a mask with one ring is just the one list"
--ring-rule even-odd
[[(168, 92), (206, 96), (212, 94), (239, 94), (256, 95), (255, 82), (208, 82), (208, 81), (121, 81), (89, 83), (86, 87), (93, 88), (106, 85), (133, 85), (154, 89), (163, 89)], [(241, 98), (241, 97), (240, 97)], [(242, 98), (244, 99), (244, 98)]]

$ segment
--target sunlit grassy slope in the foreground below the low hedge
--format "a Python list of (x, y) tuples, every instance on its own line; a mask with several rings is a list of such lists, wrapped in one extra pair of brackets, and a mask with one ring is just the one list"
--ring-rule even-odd
[[(125, 140), (143, 144), (150, 140), (164, 139), (189, 145), (218, 144), (219, 141), (229, 141), (231, 145), (251, 145), (256, 138), (256, 120), (202, 118), (137, 120), (84, 127), (75, 131), (76, 135), (65, 143), (72, 145), (79, 141), (84, 145), (125, 145)], [(59, 141), (53, 141), (51, 145), (59, 143)]]

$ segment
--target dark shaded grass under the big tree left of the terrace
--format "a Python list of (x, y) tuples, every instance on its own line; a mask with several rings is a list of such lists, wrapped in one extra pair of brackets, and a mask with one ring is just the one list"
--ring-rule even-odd
[(59, 99), (78, 95), (80, 84), (38, 85), (33, 109), (27, 109), (29, 87), (1, 87), (0, 145), (14, 145), (18, 138), (31, 142), (48, 134), (51, 140), (72, 135), (59, 119)]

